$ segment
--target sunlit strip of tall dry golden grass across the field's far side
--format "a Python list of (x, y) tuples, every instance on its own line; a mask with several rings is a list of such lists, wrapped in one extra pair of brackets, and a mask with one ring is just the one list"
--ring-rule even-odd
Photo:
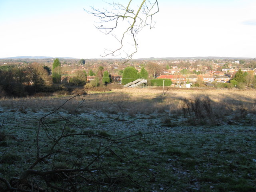
[[(2, 99), (0, 104), (5, 109), (20, 109), (36, 111), (49, 111), (56, 109), (71, 96)], [(218, 89), (169, 89), (162, 90), (150, 88), (123, 88), (113, 89), (110, 92), (88, 92), (81, 104), (78, 97), (64, 105), (63, 110), (70, 113), (74, 111), (101, 110), (109, 113), (152, 114), (169, 112), (182, 114), (181, 102), (184, 98), (206, 98), (211, 101), (215, 114), (242, 116), (256, 113), (256, 90), (218, 90)], [(24, 112), (24, 111), (23, 111)]]

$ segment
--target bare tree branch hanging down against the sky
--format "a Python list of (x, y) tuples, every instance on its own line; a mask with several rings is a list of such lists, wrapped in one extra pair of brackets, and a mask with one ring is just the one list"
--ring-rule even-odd
[[(127, 6), (118, 3), (107, 3), (111, 10), (105, 8), (104, 10), (91, 7), (91, 10), (84, 9), (88, 14), (94, 15), (98, 18), (98, 30), (108, 35), (111, 34), (118, 42), (119, 47), (114, 50), (105, 50), (106, 56), (120, 56), (125, 62), (132, 59), (132, 56), (138, 52), (138, 43), (136, 35), (145, 27), (154, 27), (155, 22), (152, 20), (158, 11), (158, 0), (151, 3), (150, 0), (142, 0), (141, 4), (137, 7), (129, 1)], [(135, 7), (137, 9), (132, 8)], [(129, 46), (132, 45), (132, 46)]]

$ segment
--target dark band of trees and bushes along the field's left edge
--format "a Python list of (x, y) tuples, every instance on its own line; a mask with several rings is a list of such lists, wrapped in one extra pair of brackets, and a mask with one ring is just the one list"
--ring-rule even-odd
[(52, 68), (38, 63), (27, 66), (0, 66), (0, 97), (32, 96), (38, 92), (50, 94), (59, 90), (71, 92), (78, 86), (86, 85), (86, 88), (91, 88), (115, 81), (103, 66), (99, 66), (96, 73), (89, 70), (90, 76), (96, 76), (90, 83), (83, 69), (74, 70), (74, 73), (68, 75), (63, 75), (63, 72), (58, 59), (54, 60)]

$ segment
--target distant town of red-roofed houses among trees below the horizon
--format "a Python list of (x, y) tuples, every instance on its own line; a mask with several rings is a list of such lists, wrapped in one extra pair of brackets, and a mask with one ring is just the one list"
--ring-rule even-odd
[[(56, 58), (46, 57), (3, 58), (0, 59), (0, 70), (4, 70), (8, 66), (15, 68), (44, 66), (48, 70), (48, 74), (52, 75), (55, 60)], [(77, 86), (84, 85), (96, 78), (100, 78), (100, 83), (102, 83), (105, 71), (110, 77), (110, 81), (107, 82), (121, 83), (124, 78), (124, 69), (133, 67), (138, 74), (142, 68), (146, 70), (147, 76), (144, 79), (171, 80), (170, 86), (172, 87), (256, 87), (255, 58), (149, 58), (129, 60), (125, 63), (122, 60), (110, 59), (58, 58), (58, 61), (60, 64), (58, 84), (70, 83), (72, 78), (74, 80), (74, 77), (78, 76), (78, 71), (83, 71), (86, 74), (86, 80), (83, 83), (75, 83)], [(99, 67), (101, 68), (100, 73)], [(33, 82), (30, 83), (33, 84)]]

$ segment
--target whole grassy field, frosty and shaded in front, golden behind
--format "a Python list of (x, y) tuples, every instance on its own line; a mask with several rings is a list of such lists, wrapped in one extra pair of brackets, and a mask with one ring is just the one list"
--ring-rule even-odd
[[(0, 100), (0, 177), (20, 178), (37, 153), (51, 152), (33, 170), (87, 168), (47, 175), (71, 191), (256, 191), (255, 90), (117, 89), (64, 104), (69, 98)], [(27, 177), (61, 191), (44, 179)]]

